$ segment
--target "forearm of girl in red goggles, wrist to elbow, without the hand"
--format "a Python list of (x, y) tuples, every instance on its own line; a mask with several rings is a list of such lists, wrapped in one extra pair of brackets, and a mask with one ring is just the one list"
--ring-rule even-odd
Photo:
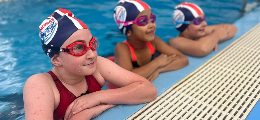
[(91, 94), (96, 94), (101, 104), (142, 104), (154, 100), (157, 97), (157, 89), (147, 80)]

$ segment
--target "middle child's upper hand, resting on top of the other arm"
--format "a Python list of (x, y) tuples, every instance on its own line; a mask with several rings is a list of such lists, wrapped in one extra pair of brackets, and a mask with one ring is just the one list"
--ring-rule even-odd
[(176, 55), (170, 55), (167, 56), (166, 54), (161, 53), (158, 57), (156, 57), (154, 60), (159, 64), (159, 68), (162, 68), (168, 64), (170, 64), (173, 60), (176, 59)]

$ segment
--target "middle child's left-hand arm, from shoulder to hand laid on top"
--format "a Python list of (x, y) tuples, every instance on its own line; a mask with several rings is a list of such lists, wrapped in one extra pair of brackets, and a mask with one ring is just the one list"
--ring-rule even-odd
[(115, 59), (114, 62), (120, 67), (129, 70), (133, 73), (141, 75), (145, 78), (149, 77), (154, 71), (158, 68), (163, 67), (169, 64), (172, 60), (175, 59), (175, 56), (159, 56), (155, 60), (143, 65), (142, 67), (133, 69), (131, 62), (131, 53), (128, 46), (125, 43), (118, 43), (115, 47)]

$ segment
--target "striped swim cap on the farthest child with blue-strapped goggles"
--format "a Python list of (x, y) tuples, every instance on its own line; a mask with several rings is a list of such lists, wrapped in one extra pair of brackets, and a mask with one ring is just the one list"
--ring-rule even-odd
[(183, 2), (178, 4), (177, 6), (175, 6), (172, 13), (175, 28), (180, 32), (183, 32), (189, 24), (175, 24), (175, 22), (192, 21), (200, 14), (203, 14), (202, 9), (194, 3)]

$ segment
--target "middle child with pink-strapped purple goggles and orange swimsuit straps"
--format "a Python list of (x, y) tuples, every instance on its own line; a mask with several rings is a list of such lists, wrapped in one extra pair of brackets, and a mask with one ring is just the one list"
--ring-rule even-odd
[[(185, 67), (188, 59), (155, 36), (156, 17), (140, 0), (120, 0), (113, 14), (127, 40), (116, 44), (114, 62), (124, 69), (153, 81), (161, 72)], [(155, 51), (161, 55), (154, 57)]]

